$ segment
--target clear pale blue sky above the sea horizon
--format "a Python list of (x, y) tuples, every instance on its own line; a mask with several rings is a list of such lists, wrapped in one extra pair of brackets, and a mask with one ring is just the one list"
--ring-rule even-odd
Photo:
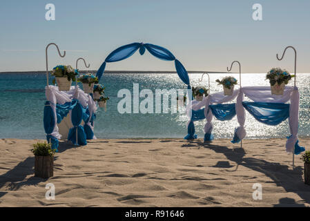
[[(46, 4), (55, 5), (55, 21), (46, 21)], [(262, 21), (254, 21), (253, 4), (262, 5)], [(46, 70), (58, 64), (75, 66), (79, 57), (97, 70), (119, 46), (144, 42), (162, 46), (186, 70), (225, 71), (232, 61), (243, 73), (286, 68), (310, 73), (309, 0), (1, 0), (0, 72)], [(82, 63), (80, 70), (85, 70)], [(106, 70), (175, 70), (171, 61), (148, 52), (107, 64)], [(234, 67), (238, 71), (237, 67)]]

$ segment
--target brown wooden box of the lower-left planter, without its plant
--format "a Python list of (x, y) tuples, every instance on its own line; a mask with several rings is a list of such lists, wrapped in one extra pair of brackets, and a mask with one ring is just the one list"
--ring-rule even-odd
[(54, 157), (35, 156), (35, 176), (48, 178), (52, 177), (54, 171)]

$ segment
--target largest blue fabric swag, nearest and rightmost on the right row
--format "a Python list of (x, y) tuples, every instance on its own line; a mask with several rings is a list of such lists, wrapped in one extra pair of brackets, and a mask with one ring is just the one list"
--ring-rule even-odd
[(259, 122), (278, 125), (289, 117), (289, 104), (267, 102), (242, 102), (246, 111)]

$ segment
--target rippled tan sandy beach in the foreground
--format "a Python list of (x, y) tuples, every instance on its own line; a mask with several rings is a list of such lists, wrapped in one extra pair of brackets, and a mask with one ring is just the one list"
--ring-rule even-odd
[[(0, 206), (309, 206), (303, 163), (284, 139), (188, 142), (182, 139), (61, 143), (54, 177), (34, 177), (39, 140), (0, 140)], [(41, 141), (41, 140), (40, 140)], [(310, 144), (309, 138), (300, 144)], [(46, 200), (46, 184), (55, 200)], [(262, 200), (253, 200), (253, 184)]]

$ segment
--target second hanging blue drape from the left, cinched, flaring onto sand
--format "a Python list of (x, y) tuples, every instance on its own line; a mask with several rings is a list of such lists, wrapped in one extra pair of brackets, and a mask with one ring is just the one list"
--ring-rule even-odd
[(87, 144), (84, 127), (80, 125), (83, 119), (83, 109), (84, 108), (81, 104), (75, 105), (72, 109), (71, 121), (74, 127), (70, 128), (68, 134), (68, 140), (70, 140), (73, 144), (79, 144), (81, 146), (85, 146)]

